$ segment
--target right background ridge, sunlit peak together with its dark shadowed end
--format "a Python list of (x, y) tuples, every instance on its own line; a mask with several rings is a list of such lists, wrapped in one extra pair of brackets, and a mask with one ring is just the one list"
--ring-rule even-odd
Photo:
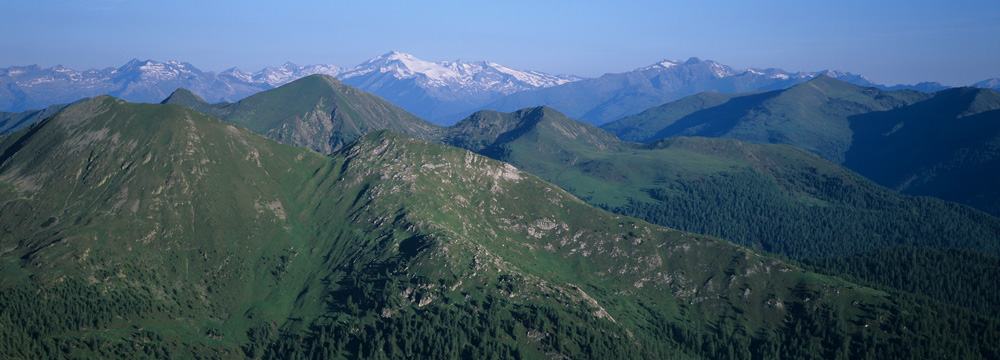
[(883, 91), (817, 77), (785, 90), (699, 94), (602, 128), (627, 141), (674, 136), (788, 144), (910, 195), (1000, 214), (1000, 93)]

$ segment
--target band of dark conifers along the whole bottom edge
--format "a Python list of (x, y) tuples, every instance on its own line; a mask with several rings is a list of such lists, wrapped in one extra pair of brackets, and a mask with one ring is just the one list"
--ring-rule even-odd
[[(969, 311), (895, 294), (896, 305), (860, 308), (881, 315), (845, 317), (827, 305), (796, 303), (784, 326), (752, 331), (738, 318), (678, 322), (651, 312), (637, 331), (579, 306), (523, 303), (518, 278), (468, 292), (439, 290), (427, 305), (380, 310), (397, 292), (434, 288), (400, 277), (342, 281), (316, 319), (292, 318), (233, 333), (221, 322), (187, 329), (172, 324), (148, 293), (102, 292), (78, 280), (46, 291), (0, 293), (5, 358), (264, 358), (264, 359), (991, 359), (1000, 356), (1000, 323)], [(368, 282), (374, 280), (374, 282)], [(341, 297), (346, 295), (346, 297)], [(805, 290), (804, 296), (813, 294)], [(583, 304), (580, 304), (583, 305)], [(641, 304), (643, 305), (643, 304)], [(644, 304), (644, 306), (655, 306)], [(584, 307), (585, 308), (585, 307)], [(649, 310), (649, 309), (646, 309)], [(161, 318), (162, 320), (157, 320)], [(191, 319), (196, 320), (196, 319)], [(862, 330), (856, 330), (859, 328)], [(234, 339), (245, 339), (234, 341)], [(242, 343), (241, 345), (236, 345)]]

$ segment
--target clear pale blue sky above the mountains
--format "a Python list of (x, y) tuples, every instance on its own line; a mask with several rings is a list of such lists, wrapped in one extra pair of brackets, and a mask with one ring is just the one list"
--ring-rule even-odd
[(0, 67), (132, 58), (205, 71), (350, 67), (390, 50), (581, 76), (659, 59), (837, 69), (878, 83), (1000, 77), (1000, 1), (5, 0)]

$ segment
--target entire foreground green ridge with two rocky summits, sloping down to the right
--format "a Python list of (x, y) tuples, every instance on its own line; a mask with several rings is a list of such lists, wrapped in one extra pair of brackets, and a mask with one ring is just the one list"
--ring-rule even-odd
[(99, 97), (0, 154), (5, 357), (998, 354), (995, 320), (398, 133), (324, 157)]

